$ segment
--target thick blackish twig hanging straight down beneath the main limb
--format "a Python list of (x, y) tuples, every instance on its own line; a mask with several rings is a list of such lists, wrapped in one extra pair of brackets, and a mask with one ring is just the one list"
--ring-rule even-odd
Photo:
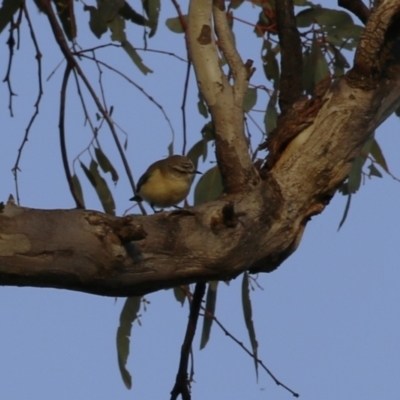
[(190, 381), (188, 380), (188, 362), (194, 334), (196, 333), (201, 301), (203, 299), (205, 290), (205, 283), (196, 283), (192, 304), (190, 305), (189, 321), (186, 327), (185, 339), (183, 340), (181, 348), (181, 359), (179, 362), (178, 373), (176, 374), (175, 385), (171, 391), (171, 400), (176, 400), (179, 395), (182, 395), (183, 400), (190, 400), (191, 398)]

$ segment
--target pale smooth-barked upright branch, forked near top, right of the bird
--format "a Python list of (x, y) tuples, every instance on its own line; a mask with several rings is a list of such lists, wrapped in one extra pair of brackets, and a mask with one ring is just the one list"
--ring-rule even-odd
[[(219, 4), (219, 2), (218, 2)], [(232, 35), (226, 30), (226, 15), (214, 7), (216, 28), (222, 39), (222, 50), (235, 79), (232, 88), (218, 57), (211, 22), (212, 0), (192, 0), (188, 16), (188, 43), (200, 91), (210, 108), (216, 132), (216, 154), (226, 193), (251, 190), (259, 178), (249, 157), (248, 142), (244, 135), (243, 97), (249, 75), (245, 76), (240, 57), (233, 52)]]

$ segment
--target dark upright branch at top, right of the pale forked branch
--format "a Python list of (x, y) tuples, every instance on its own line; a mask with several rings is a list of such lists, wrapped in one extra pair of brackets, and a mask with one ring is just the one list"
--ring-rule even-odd
[(281, 47), (281, 79), (279, 106), (285, 113), (303, 92), (303, 55), (294, 16), (293, 0), (275, 2)]

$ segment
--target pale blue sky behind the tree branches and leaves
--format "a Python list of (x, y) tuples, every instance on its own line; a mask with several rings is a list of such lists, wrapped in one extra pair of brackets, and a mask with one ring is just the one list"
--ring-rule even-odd
[[(132, 3), (134, 4), (134, 3)], [(136, 3), (135, 3), (136, 4)], [(43, 58), (46, 78), (61, 60), (52, 45), (44, 16), (30, 5)], [(76, 3), (76, 8), (81, 5)], [(162, 19), (175, 15), (163, 2)], [(84, 20), (87, 14), (78, 13)], [(85, 22), (86, 24), (86, 22)], [(237, 27), (239, 28), (239, 24)], [(261, 41), (245, 27), (239, 43), (244, 59), (258, 60)], [(139, 31), (140, 32), (140, 31)], [(246, 33), (247, 32), (247, 33)], [(0, 86), (0, 201), (14, 193), (10, 172), (36, 98), (36, 64), (26, 27), (22, 27), (22, 51), (16, 54), (13, 85), (15, 117), (7, 111), (6, 85)], [(133, 44), (141, 46), (138, 31), (128, 27)], [(135, 36), (136, 35), (136, 36)], [(0, 36), (1, 59), (7, 56), (7, 33)], [(105, 41), (108, 34), (105, 35)], [(81, 32), (79, 43), (92, 43)], [(150, 48), (173, 47), (184, 56), (183, 37), (163, 28)], [(102, 55), (103, 54), (103, 55)], [(166, 56), (143, 55), (155, 73), (144, 78), (119, 49), (99, 53), (114, 63), (159, 101), (170, 116), (180, 151), (184, 63)], [(97, 81), (95, 70), (92, 82)], [(58, 148), (59, 87), (63, 67), (45, 82), (45, 96), (38, 121), (21, 162), (22, 205), (36, 208), (72, 208)], [(2, 63), (1, 74), (5, 67)], [(171, 72), (172, 71), (172, 72)], [(3, 77), (3, 75), (1, 75)], [(112, 78), (112, 76), (108, 75)], [(252, 82), (265, 83), (261, 68)], [(70, 82), (68, 143), (70, 157), (90, 140)], [(108, 80), (109, 105), (115, 105), (115, 120), (129, 132), (127, 150), (138, 176), (150, 162), (167, 154), (171, 140), (168, 125), (158, 109), (118, 78)], [(266, 98), (260, 95), (260, 106)], [(205, 120), (196, 112), (197, 90), (191, 83), (188, 100), (190, 144), (199, 139)], [(257, 130), (253, 127), (254, 137)], [(400, 175), (399, 121), (391, 118), (377, 136), (393, 173)], [(117, 160), (115, 148), (102, 130), (100, 139)], [(83, 157), (87, 162), (89, 158)], [(206, 165), (213, 160), (212, 152)], [(130, 188), (120, 169), (121, 180), (113, 191), (118, 213), (130, 206)], [(100, 209), (93, 190), (80, 170), (88, 208)], [(344, 227), (337, 226), (345, 205), (341, 195), (308, 225), (300, 248), (277, 271), (261, 275), (264, 290), (252, 293), (259, 356), (277, 378), (300, 393), (302, 399), (385, 399), (400, 396), (400, 185), (390, 177), (368, 181), (353, 198)], [(216, 314), (225, 326), (248, 344), (240, 301), (240, 278), (230, 286), (221, 284)], [(187, 322), (187, 307), (181, 308), (171, 291), (147, 296), (151, 302), (142, 313), (142, 326), (133, 327), (128, 367), (133, 389), (128, 391), (119, 375), (115, 335), (124, 300), (52, 289), (0, 289), (0, 392), (8, 400), (47, 399), (166, 399), (177, 371), (179, 352)], [(215, 326), (205, 350), (195, 339), (193, 399), (289, 399), (260, 370), (256, 383), (253, 361)]]

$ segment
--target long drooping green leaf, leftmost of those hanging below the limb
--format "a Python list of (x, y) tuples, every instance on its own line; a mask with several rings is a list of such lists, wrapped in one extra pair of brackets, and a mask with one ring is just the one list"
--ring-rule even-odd
[(129, 356), (129, 344), (132, 331), (132, 324), (135, 321), (140, 309), (141, 297), (128, 297), (119, 317), (117, 330), (117, 356), (118, 367), (121, 372), (125, 386), (132, 387), (132, 377), (126, 369), (126, 362)]

